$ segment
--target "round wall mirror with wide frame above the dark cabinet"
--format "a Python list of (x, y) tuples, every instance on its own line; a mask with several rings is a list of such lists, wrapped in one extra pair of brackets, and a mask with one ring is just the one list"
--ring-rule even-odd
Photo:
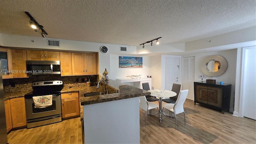
[(227, 70), (228, 63), (222, 56), (207, 56), (201, 65), (201, 69), (207, 76), (220, 76)]

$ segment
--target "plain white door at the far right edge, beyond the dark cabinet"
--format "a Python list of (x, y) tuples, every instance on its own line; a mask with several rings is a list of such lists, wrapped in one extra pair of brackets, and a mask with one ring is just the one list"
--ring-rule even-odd
[(256, 47), (245, 48), (244, 55), (244, 110), (247, 118), (256, 120)]

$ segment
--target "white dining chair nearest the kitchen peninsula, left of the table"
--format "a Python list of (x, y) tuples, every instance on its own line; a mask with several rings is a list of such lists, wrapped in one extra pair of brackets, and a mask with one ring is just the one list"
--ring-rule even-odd
[[(145, 125), (146, 125), (146, 122), (147, 122), (148, 110), (152, 110), (154, 108), (157, 108), (157, 111), (159, 112), (158, 104), (156, 104), (154, 102), (148, 102), (147, 99), (146, 99), (146, 96), (140, 96), (140, 108), (146, 112)], [(158, 112), (156, 114), (158, 114)], [(150, 115), (156, 115), (156, 114), (151, 114), (151, 112), (150, 112)]]

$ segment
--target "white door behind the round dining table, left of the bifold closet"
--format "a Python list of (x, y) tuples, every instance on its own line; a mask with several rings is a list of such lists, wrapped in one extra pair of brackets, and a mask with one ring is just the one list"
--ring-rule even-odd
[(180, 58), (165, 58), (165, 89), (172, 90), (172, 84), (179, 83), (179, 61)]

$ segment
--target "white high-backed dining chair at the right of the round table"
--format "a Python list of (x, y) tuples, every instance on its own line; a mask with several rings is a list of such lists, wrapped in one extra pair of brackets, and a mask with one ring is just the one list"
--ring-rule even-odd
[(168, 103), (168, 104), (163, 105), (162, 110), (166, 109), (166, 110), (170, 111), (170, 115), (169, 115), (170, 117), (172, 117), (172, 113), (174, 113), (175, 129), (176, 129), (176, 126), (177, 126), (176, 114), (180, 114), (182, 112), (184, 113), (184, 122), (185, 122), (185, 125), (186, 125), (186, 116), (185, 116), (183, 105), (184, 105), (184, 102), (185, 102), (187, 96), (188, 96), (188, 90), (181, 90), (175, 104)]

